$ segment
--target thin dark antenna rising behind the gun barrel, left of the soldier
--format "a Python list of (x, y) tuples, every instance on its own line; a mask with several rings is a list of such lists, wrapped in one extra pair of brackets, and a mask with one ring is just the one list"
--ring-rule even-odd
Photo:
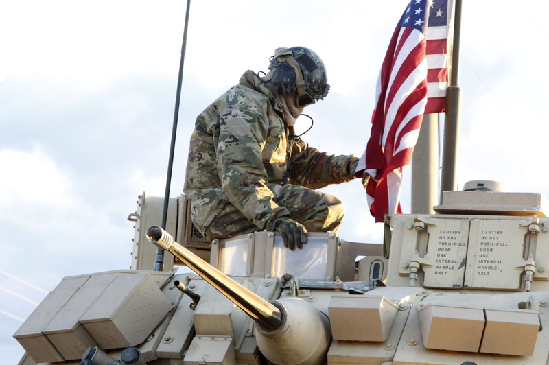
[[(162, 212), (162, 229), (166, 229), (167, 207), (170, 202), (170, 185), (172, 184), (172, 167), (174, 165), (174, 150), (176, 148), (177, 120), (179, 115), (179, 99), (181, 97), (181, 84), (183, 82), (183, 64), (185, 64), (185, 49), (187, 48), (187, 27), (189, 26), (189, 11), (191, 9), (191, 0), (187, 0), (187, 10), (185, 12), (185, 30), (183, 30), (183, 45), (181, 46), (181, 59), (179, 61), (179, 75), (177, 79), (176, 106), (174, 110), (174, 125), (172, 127), (172, 143), (170, 145), (170, 158), (167, 164), (166, 191), (164, 194), (164, 209)], [(156, 250), (156, 261), (154, 261), (154, 271), (164, 270), (164, 251), (158, 248)]]

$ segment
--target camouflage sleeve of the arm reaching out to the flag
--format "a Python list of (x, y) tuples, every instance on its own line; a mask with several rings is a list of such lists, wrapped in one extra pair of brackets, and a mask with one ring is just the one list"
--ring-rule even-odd
[(320, 152), (297, 137), (292, 148), (290, 183), (310, 189), (346, 183), (355, 178), (358, 157)]

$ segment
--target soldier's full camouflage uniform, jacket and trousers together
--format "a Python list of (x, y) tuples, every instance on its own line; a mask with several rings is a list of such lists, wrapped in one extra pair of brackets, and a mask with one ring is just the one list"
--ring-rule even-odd
[[(192, 219), (209, 239), (267, 229), (281, 217), (307, 231), (337, 231), (341, 201), (318, 189), (353, 179), (355, 156), (334, 156), (299, 137), (288, 143), (282, 109), (264, 82), (246, 71), (196, 119), (184, 192)], [(281, 185), (290, 154), (289, 185)]]

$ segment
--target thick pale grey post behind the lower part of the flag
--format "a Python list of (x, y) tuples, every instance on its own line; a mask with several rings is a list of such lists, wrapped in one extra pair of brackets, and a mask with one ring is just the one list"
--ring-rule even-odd
[(412, 214), (434, 214), (439, 199), (439, 114), (424, 114), (412, 156)]

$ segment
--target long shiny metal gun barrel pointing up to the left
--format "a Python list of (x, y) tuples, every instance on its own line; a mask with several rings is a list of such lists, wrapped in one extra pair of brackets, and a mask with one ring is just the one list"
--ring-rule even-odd
[(174, 237), (161, 227), (151, 226), (147, 231), (147, 238), (159, 248), (171, 252), (172, 255), (183, 261), (191, 270), (202, 276), (202, 279), (219, 290), (262, 326), (267, 329), (275, 329), (281, 324), (282, 314), (278, 307), (213, 268), (209, 263), (175, 242)]

